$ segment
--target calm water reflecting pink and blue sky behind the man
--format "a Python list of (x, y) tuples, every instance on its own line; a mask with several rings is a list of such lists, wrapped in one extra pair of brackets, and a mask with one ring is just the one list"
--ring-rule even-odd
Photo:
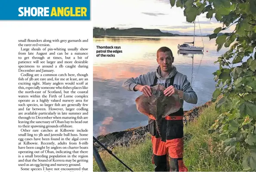
[[(148, 117), (136, 109), (135, 99), (141, 92), (129, 92), (122, 83), (130, 78), (154, 71), (158, 66), (156, 52), (162, 46), (173, 51), (177, 70), (187, 75), (194, 91), (197, 104), (184, 102), (184, 110), (204, 104), (212, 98), (215, 90), (213, 72), (218, 64), (213, 64), (227, 48), (216, 51), (215, 40), (203, 37), (204, 53), (178, 53), (178, 44), (193, 42), (193, 37), (105, 37), (95, 38), (94, 46), (120, 46), (123, 53), (115, 57), (94, 56), (93, 66), (93, 134), (111, 133), (147, 125)], [(196, 46), (203, 46), (202, 38), (195, 38)], [(208, 50), (208, 52), (207, 52)], [(192, 58), (194, 56), (194, 58)]]

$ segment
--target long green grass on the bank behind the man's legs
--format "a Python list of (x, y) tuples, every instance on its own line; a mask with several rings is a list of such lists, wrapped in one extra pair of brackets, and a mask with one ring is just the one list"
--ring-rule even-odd
[[(241, 148), (236, 155), (228, 157), (221, 150), (219, 143), (213, 140), (214, 133), (207, 132), (219, 116), (214, 106), (215, 104), (212, 104), (202, 110), (195, 121), (184, 127), (185, 165), (189, 171), (242, 171), (244, 149)], [(150, 137), (139, 145), (115, 148), (113, 153), (133, 171), (154, 171), (154, 165), (151, 163)], [(108, 171), (129, 171), (108, 152), (103, 151), (100, 154)], [(93, 171), (100, 171), (95, 160)]]

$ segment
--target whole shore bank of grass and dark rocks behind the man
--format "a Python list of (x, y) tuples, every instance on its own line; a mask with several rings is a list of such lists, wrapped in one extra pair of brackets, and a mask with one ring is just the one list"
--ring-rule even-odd
[[(216, 133), (208, 132), (219, 116), (215, 106), (216, 102), (208, 101), (202, 106), (185, 111), (185, 165), (189, 171), (243, 171), (242, 157), (246, 150), (241, 147), (237, 154), (227, 156), (221, 143), (215, 140)], [(235, 102), (231, 102), (228, 107), (222, 109), (225, 111), (234, 106)], [(154, 171), (154, 165), (151, 163), (151, 136), (147, 125), (97, 136), (97, 139), (133, 171)], [(108, 171), (128, 170), (98, 143), (94, 142), (94, 145)], [(100, 171), (94, 158), (93, 171)]]

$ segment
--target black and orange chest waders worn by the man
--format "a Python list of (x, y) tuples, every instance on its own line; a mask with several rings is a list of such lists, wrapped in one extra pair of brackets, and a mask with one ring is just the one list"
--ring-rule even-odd
[[(170, 78), (171, 86), (173, 86), (174, 77)], [(157, 79), (155, 76), (151, 86), (157, 85)], [(154, 117), (148, 119), (148, 129), (153, 145), (152, 163), (155, 165), (156, 172), (166, 172), (169, 169), (171, 172), (188, 171), (183, 163), (183, 115), (183, 108), (180, 108), (176, 113), (171, 113), (163, 119), (162, 125), (159, 126), (161, 138), (156, 130)]]

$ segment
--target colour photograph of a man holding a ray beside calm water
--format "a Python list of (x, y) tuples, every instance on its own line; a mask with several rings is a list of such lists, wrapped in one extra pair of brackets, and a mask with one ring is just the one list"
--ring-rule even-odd
[(256, 1), (95, 3), (93, 170), (255, 171)]

